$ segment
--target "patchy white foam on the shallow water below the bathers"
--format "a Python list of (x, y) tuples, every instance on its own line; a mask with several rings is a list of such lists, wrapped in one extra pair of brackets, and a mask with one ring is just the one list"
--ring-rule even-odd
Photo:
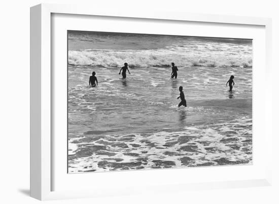
[[(181, 168), (203, 165), (206, 162), (219, 165), (220, 158), (226, 158), (232, 164), (251, 164), (252, 153), (249, 152), (252, 151), (252, 144), (243, 143), (247, 139), (252, 139), (251, 121), (249, 117), (242, 117), (231, 123), (215, 124), (212, 127), (187, 127), (184, 131), (160, 131), (148, 135), (107, 135), (91, 143), (77, 143), (71, 145), (74, 149), (71, 155), (75, 155), (79, 148), (84, 148), (85, 144), (103, 146), (106, 150), (100, 152), (104, 151), (108, 154), (94, 151), (91, 156), (72, 159), (69, 161), (69, 172), (121, 170), (122, 164), (123, 168), (127, 166), (126, 168), (130, 170), (135, 167)], [(243, 126), (250, 127), (243, 128)], [(69, 140), (69, 143), (72, 141), (74, 140)], [(185, 156), (192, 159), (189, 160), (188, 165), (183, 163)], [(141, 158), (146, 162), (136, 160)], [(100, 161), (107, 161), (107, 163), (102, 166)], [(137, 164), (136, 162), (138, 165), (133, 166)]]

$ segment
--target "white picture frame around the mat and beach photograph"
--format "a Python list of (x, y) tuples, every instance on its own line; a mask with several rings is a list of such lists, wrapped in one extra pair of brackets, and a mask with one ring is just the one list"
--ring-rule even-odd
[[(138, 19), (145, 19), (148, 21), (167, 20), (170, 22), (192, 22), (192, 23), (217, 23), (227, 25), (241, 25), (242, 27), (253, 25), (263, 26), (265, 33), (265, 73), (264, 91), (265, 95), (262, 99), (264, 102), (264, 118), (262, 121), (262, 131), (264, 133), (264, 154), (266, 158), (271, 158), (271, 19), (269, 18), (255, 18), (255, 17), (237, 17), (237, 16), (218, 16), (218, 15), (205, 15), (205, 14), (187, 14), (179, 12), (165, 12), (154, 10), (151, 12), (140, 11), (125, 11), (123, 14), (118, 10), (102, 10), (99, 8), (89, 8), (86, 6), (77, 5), (52, 5), (41, 4), (34, 6), (30, 9), (30, 194), (32, 197), (40, 200), (49, 199), (66, 199), (66, 198), (81, 198), (81, 197), (94, 197), (94, 196), (109, 196), (109, 195), (126, 195), (133, 193), (150, 193), (150, 192), (175, 192), (176, 190), (188, 189), (212, 189), (212, 188), (230, 188), (230, 187), (252, 187), (252, 186), (268, 186), (271, 185), (271, 161), (266, 161), (264, 164), (256, 164), (264, 169), (263, 174), (256, 175), (255, 178), (239, 177), (235, 180), (219, 179), (218, 181), (198, 181), (195, 183), (187, 183), (183, 180), (177, 183), (159, 183), (156, 180), (156, 171), (150, 171), (149, 177), (154, 180), (147, 184), (134, 183), (133, 188), (128, 188), (124, 184), (121, 186), (115, 185), (106, 192), (103, 188), (84, 188), (81, 190), (62, 189), (55, 190), (53, 183), (57, 180), (57, 175), (53, 169), (55, 162), (54, 147), (53, 147), (53, 124), (52, 121), (52, 100), (53, 100), (53, 71), (52, 64), (52, 19), (53, 14), (71, 14), (71, 15), (87, 15), (111, 18), (126, 18), (129, 21), (136, 21)], [(154, 22), (156, 23), (156, 22)], [(111, 31), (111, 30), (110, 30)], [(65, 51), (66, 52), (66, 51)], [(253, 117), (254, 117), (253, 109)], [(254, 131), (254, 129), (253, 129)], [(66, 152), (64, 152), (66, 154)], [(222, 168), (222, 167), (221, 167)], [(164, 173), (171, 175), (173, 172), (163, 170)], [(176, 170), (177, 173), (185, 171), (193, 171), (189, 169)], [(194, 170), (198, 171), (198, 170)], [(203, 171), (213, 172), (214, 169)], [(221, 170), (222, 171), (222, 170)], [(223, 169), (223, 171), (226, 171)], [(144, 171), (141, 171), (144, 172)], [(113, 179), (118, 176), (126, 176), (133, 178), (136, 173), (121, 172), (121, 173), (102, 173), (108, 174), (109, 178)], [(142, 174), (138, 173), (137, 174)], [(60, 175), (58, 175), (59, 177)], [(89, 177), (89, 174), (84, 174), (84, 178)], [(65, 177), (66, 178), (66, 177)], [(97, 181), (101, 182), (101, 181)], [(124, 182), (125, 183), (125, 182)], [(132, 185), (132, 184), (131, 184)], [(144, 185), (144, 188), (140, 185)], [(156, 189), (154, 189), (156, 186)]]

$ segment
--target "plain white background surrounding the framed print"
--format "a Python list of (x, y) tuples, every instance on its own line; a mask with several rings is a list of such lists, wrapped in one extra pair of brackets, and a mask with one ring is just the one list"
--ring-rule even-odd
[[(277, 92), (279, 56), (279, 15), (276, 1), (5, 1), (0, 19), (0, 83), (1, 83), (1, 139), (0, 139), (0, 202), (38, 203), (29, 194), (29, 7), (40, 3), (82, 4), (112, 7), (123, 10), (153, 10), (156, 7), (189, 13), (229, 14), (271, 17), (273, 22), (273, 88)], [(273, 96), (273, 126), (278, 96)], [(275, 129), (274, 129), (275, 130)], [(278, 135), (278, 134), (274, 134)], [(274, 147), (278, 139), (274, 138)], [(50, 203), (278, 203), (278, 150), (274, 152), (273, 186), (244, 189), (187, 191), (176, 194), (108, 197), (79, 200), (48, 201)], [(210, 175), (208, 175), (210, 176)]]

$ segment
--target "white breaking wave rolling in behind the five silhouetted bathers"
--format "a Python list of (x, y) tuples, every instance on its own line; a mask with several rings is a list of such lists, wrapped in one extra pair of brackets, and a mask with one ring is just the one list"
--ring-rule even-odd
[(68, 64), (74, 66), (130, 67), (186, 66), (251, 67), (252, 55), (224, 55), (221, 52), (190, 54), (172, 50), (82, 50), (68, 51)]

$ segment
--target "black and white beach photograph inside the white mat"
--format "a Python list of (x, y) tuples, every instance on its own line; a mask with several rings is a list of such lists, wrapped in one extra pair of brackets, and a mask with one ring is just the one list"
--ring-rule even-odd
[(68, 173), (252, 165), (252, 43), (68, 30)]

